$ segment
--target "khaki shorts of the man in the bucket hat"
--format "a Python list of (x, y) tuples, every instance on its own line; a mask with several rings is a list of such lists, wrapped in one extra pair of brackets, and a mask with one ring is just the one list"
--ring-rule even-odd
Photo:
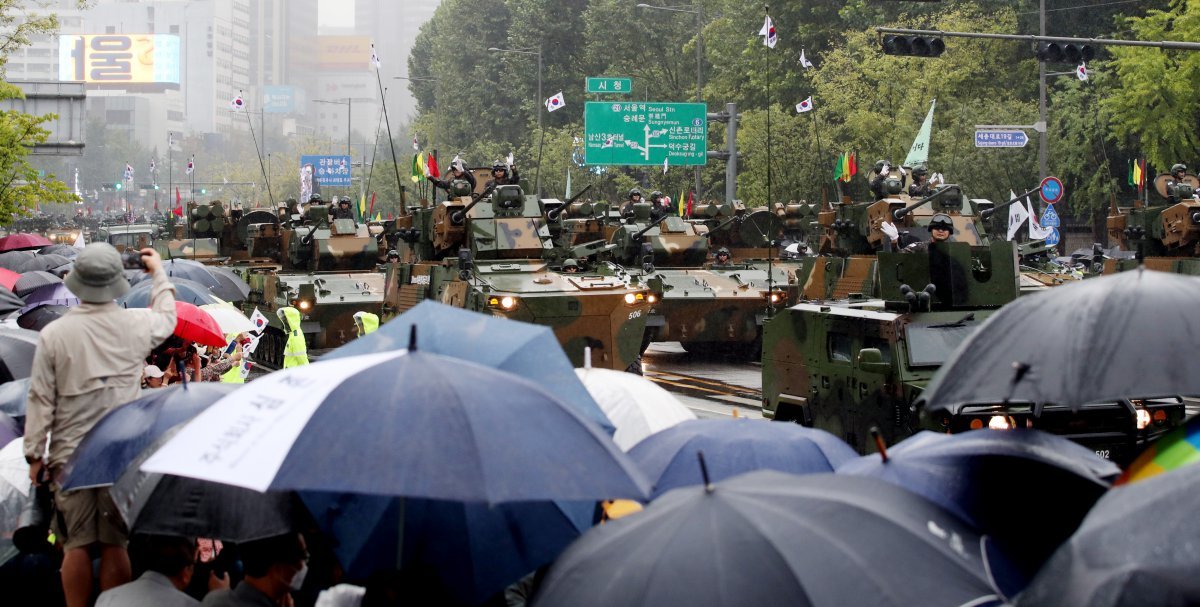
[(130, 543), (130, 531), (108, 487), (64, 492), (54, 483), (53, 489), (58, 513), (52, 527), (64, 549), (85, 548), (92, 543), (125, 548)]

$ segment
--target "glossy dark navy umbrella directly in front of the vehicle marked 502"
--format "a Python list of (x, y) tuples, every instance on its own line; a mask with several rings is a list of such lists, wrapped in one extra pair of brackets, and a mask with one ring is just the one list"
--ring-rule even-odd
[[(1076, 443), (1037, 429), (920, 432), (838, 467), (918, 493), (996, 540), (1026, 578), (1070, 536), (1121, 473)], [(1020, 479), (1020, 482), (1012, 482)], [(1038, 533), (1030, 533), (1036, 512)], [(1022, 513), (1022, 515), (1019, 515)]]

